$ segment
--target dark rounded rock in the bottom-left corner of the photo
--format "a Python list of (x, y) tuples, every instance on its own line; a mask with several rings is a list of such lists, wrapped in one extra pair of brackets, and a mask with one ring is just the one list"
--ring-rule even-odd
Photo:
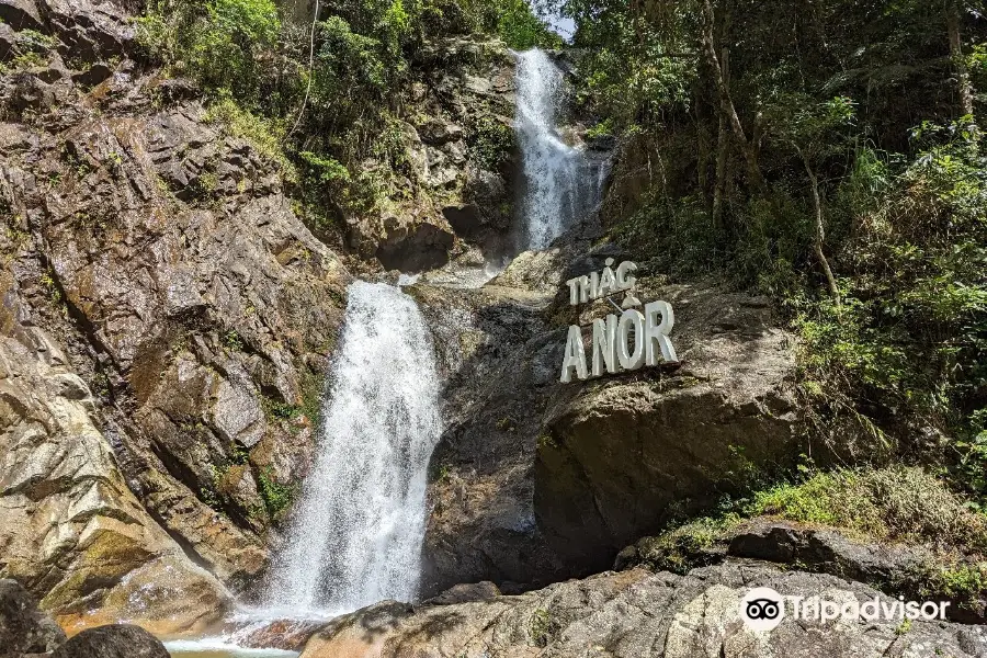
[(37, 608), (16, 580), (0, 580), (0, 658), (47, 654), (65, 642), (65, 633)]

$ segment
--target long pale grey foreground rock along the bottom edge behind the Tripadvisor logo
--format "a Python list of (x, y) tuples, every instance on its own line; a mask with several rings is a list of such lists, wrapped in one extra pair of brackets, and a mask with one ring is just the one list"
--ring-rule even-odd
[(740, 600), (757, 587), (840, 604), (874, 598), (892, 602), (859, 582), (756, 563), (706, 567), (688, 576), (633, 569), (483, 602), (417, 609), (383, 603), (330, 623), (309, 640), (302, 658), (987, 655), (987, 629), (943, 622), (824, 623), (789, 614), (771, 632), (752, 631), (741, 621)]

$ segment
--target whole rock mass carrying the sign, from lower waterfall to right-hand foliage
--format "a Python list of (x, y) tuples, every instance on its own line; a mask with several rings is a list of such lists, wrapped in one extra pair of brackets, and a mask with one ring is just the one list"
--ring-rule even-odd
[[(480, 290), (410, 288), (435, 333), (446, 430), (432, 458), (424, 593), (504, 591), (609, 568), (672, 514), (798, 455), (794, 339), (764, 298), (714, 281), (661, 285), (680, 366), (559, 383), (574, 308), (563, 282), (620, 259), (574, 242), (526, 252)], [(676, 504), (672, 504), (672, 503)]]

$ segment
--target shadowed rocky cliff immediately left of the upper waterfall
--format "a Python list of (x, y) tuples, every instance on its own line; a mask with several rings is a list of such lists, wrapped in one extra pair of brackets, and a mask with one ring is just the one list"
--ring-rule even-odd
[(386, 270), (412, 273), (442, 268), (470, 246), (487, 258), (511, 251), (513, 91), (514, 60), (500, 42), (424, 48), (398, 127), (410, 177), (394, 181), (378, 213), (348, 218), (350, 246)]

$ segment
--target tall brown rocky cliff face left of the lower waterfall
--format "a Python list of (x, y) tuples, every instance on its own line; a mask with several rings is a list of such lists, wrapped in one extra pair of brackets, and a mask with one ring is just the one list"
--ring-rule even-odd
[(168, 587), (215, 613), (227, 594), (196, 565), (264, 568), (349, 275), (275, 163), (127, 58), (117, 5), (0, 18), (4, 53), (33, 53), (0, 78), (0, 572), (60, 615), (148, 583), (151, 616)]

